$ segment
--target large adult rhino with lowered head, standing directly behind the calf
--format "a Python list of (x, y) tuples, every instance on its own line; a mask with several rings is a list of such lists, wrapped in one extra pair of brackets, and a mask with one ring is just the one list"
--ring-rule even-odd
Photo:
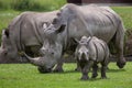
[[(51, 69), (58, 61), (57, 70), (62, 70), (59, 54), (63, 55), (68, 46), (73, 45), (72, 38), (79, 40), (82, 35), (97, 36), (107, 43), (112, 41), (118, 54), (117, 65), (120, 68), (125, 65), (123, 58), (124, 28), (120, 16), (109, 7), (65, 4), (44, 33), (47, 41), (43, 43), (42, 52), (45, 57), (35, 61), (42, 69)], [(57, 50), (57, 45), (61, 45), (62, 50)], [(47, 54), (51, 55), (50, 59), (46, 57)], [(40, 61), (48, 61), (48, 63), (40, 63)], [(51, 64), (50, 62), (53, 61), (54, 63)]]

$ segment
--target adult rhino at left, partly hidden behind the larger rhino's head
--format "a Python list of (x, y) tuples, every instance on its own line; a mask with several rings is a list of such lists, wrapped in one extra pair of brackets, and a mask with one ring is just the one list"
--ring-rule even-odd
[(56, 18), (57, 11), (23, 12), (14, 18), (2, 31), (0, 63), (23, 62), (18, 54), (24, 51), (33, 56), (38, 55), (43, 45), (44, 29)]

